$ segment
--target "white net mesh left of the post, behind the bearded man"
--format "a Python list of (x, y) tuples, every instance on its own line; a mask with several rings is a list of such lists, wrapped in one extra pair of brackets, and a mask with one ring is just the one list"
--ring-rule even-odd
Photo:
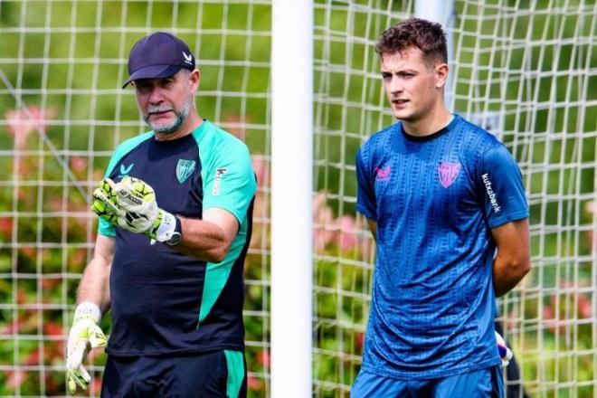
[[(156, 30), (189, 44), (200, 114), (244, 139), (267, 172), (269, 2), (0, 3), (0, 395), (66, 391), (64, 339), (96, 233), (88, 197), (114, 147), (146, 129), (133, 90), (120, 86), (128, 50)], [(256, 395), (269, 377), (265, 185), (259, 196), (245, 310)], [(92, 356), (89, 394), (99, 396), (105, 355)]]

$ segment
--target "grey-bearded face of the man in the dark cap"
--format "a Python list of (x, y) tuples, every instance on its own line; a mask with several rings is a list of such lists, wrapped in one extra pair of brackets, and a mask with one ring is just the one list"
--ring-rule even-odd
[(178, 71), (168, 78), (135, 81), (141, 115), (156, 133), (175, 133), (185, 123), (196, 89), (190, 76), (188, 71)]

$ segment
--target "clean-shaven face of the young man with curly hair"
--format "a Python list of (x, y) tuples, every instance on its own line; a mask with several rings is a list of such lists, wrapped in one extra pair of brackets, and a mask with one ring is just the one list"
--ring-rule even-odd
[(384, 53), (381, 61), (384, 88), (393, 116), (409, 122), (427, 116), (443, 96), (446, 76), (438, 72), (439, 66), (425, 61), (423, 52), (416, 47)]

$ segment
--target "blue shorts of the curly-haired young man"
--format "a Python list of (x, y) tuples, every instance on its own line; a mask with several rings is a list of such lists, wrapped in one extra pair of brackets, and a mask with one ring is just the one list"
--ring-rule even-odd
[(499, 366), (441, 379), (399, 380), (361, 370), (350, 391), (352, 398), (502, 398), (504, 380)]

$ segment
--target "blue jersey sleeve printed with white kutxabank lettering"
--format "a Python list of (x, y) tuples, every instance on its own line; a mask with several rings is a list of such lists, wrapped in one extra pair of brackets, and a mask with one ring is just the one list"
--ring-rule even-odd
[(478, 179), (490, 228), (528, 217), (522, 174), (504, 145), (490, 147), (483, 154)]

